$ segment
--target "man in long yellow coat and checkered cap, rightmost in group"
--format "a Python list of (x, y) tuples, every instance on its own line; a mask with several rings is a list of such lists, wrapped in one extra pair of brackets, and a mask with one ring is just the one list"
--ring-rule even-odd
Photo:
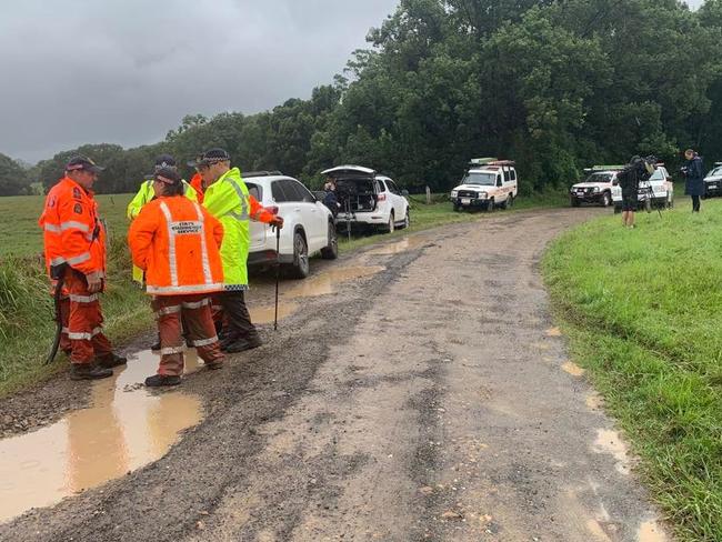
[(249, 219), (282, 228), (283, 219), (267, 211), (252, 198), (238, 168), (231, 169), (231, 158), (223, 149), (210, 149), (194, 164), (203, 177), (203, 205), (223, 224), (221, 245), (223, 292), (220, 301), (228, 330), (221, 343), (224, 352), (234, 353), (261, 345), (258, 331), (245, 307), (248, 290), (248, 253), (251, 244)]

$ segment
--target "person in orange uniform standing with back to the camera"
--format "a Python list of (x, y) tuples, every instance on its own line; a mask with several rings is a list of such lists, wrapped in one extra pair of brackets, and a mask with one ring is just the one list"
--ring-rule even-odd
[(128, 232), (133, 263), (146, 272), (148, 293), (154, 297), (160, 333), (160, 368), (146, 385), (178, 385), (184, 364), (181, 318), (205, 365), (223, 367), (210, 301), (212, 293), (223, 289), (219, 252), (223, 227), (183, 197), (174, 170), (158, 171), (153, 191), (156, 199), (143, 207)]

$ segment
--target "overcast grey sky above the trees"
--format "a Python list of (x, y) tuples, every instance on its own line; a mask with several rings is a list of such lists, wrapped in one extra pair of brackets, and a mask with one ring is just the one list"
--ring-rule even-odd
[(398, 0), (24, 0), (0, 7), (0, 152), (162, 139), (331, 82)]

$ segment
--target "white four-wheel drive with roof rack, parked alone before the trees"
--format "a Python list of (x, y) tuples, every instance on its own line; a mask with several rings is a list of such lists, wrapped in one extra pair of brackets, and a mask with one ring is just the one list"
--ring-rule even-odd
[(517, 169), (511, 160), (474, 158), (461, 183), (451, 191), (454, 211), (480, 208), (508, 209), (519, 193)]

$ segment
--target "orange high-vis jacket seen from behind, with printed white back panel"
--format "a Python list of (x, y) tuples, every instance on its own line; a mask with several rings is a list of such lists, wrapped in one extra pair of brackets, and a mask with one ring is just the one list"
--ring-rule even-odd
[(147, 203), (128, 232), (133, 263), (146, 271), (152, 295), (223, 290), (222, 240), (221, 223), (183, 195)]

